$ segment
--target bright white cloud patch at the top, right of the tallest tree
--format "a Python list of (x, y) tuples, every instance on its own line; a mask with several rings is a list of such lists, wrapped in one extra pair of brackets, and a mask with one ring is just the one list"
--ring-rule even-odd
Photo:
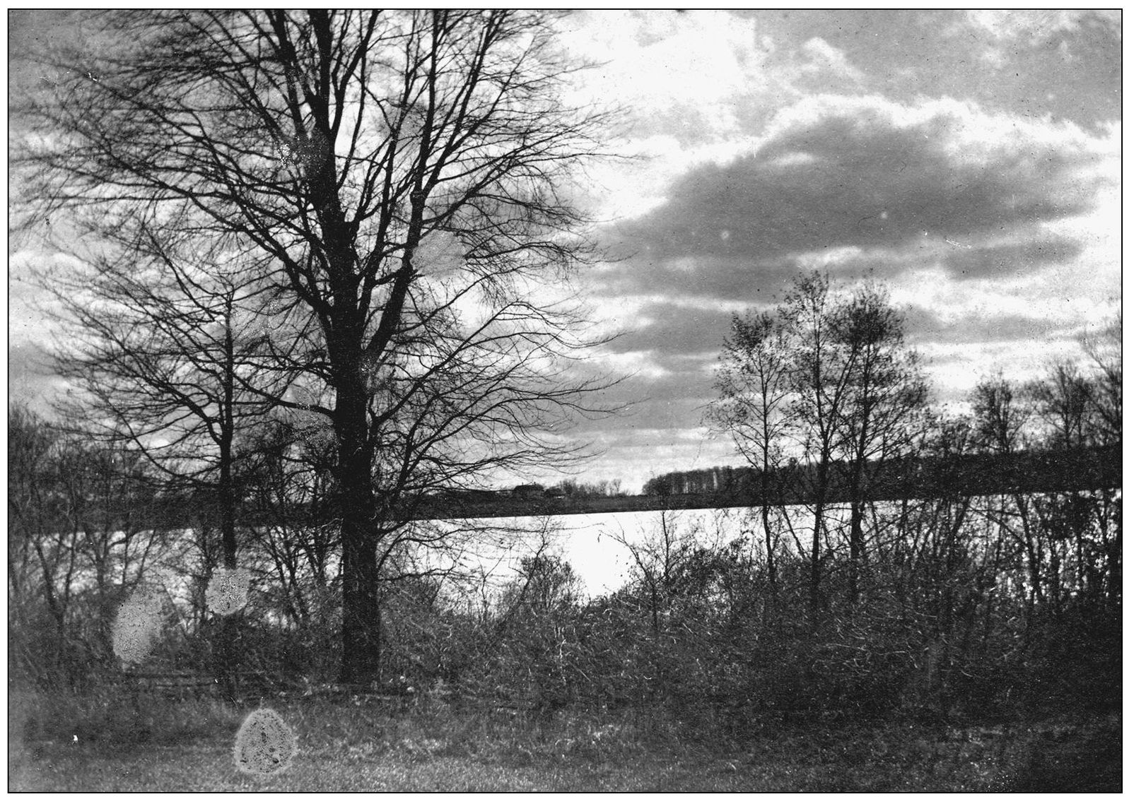
[(589, 200), (602, 218), (645, 213), (666, 199), (679, 174), (746, 151), (752, 138), (743, 115), (753, 107), (768, 114), (800, 95), (795, 70), (767, 65), (773, 45), (749, 17), (588, 10), (568, 15), (561, 27), (562, 49), (597, 64), (571, 79), (570, 100), (624, 113), (618, 150), (633, 160), (589, 170), (596, 184)]

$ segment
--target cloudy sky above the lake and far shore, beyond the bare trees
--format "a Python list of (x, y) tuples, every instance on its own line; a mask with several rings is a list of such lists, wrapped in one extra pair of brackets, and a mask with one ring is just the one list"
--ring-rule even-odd
[[(803, 269), (883, 281), (956, 409), (1120, 307), (1120, 11), (589, 10), (561, 44), (633, 157), (584, 190), (610, 258), (577, 286), (622, 334), (593, 365), (633, 405), (572, 431), (602, 451), (581, 480), (738, 464), (702, 420), (723, 339)], [(9, 243), (9, 396), (33, 404), (58, 381), (18, 278), (51, 257)]]

